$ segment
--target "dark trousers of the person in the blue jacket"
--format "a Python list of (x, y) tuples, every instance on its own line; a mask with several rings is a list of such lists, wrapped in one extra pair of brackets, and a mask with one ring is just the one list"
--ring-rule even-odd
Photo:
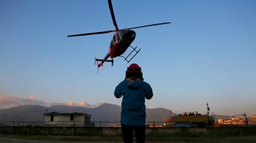
[(145, 143), (145, 125), (124, 125), (121, 124), (121, 132), (123, 135), (124, 143), (132, 143), (133, 141), (133, 131), (135, 131), (135, 137), (137, 143)]

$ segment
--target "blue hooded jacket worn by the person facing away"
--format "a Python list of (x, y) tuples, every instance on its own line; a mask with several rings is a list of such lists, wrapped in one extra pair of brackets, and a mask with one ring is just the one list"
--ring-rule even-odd
[(147, 82), (127, 78), (116, 86), (114, 94), (116, 98), (123, 96), (121, 124), (138, 126), (146, 124), (145, 98), (153, 97), (152, 88)]

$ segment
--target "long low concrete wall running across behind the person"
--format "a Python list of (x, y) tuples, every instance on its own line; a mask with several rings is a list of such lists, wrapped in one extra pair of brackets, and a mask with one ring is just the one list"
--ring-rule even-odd
[[(255, 134), (256, 126), (250, 128), (146, 128), (146, 136), (171, 135), (184, 131), (212, 134)], [(83, 136), (121, 136), (121, 128), (109, 127), (53, 127), (53, 126), (0, 126), (0, 134), (38, 134), (38, 135), (83, 135)]]

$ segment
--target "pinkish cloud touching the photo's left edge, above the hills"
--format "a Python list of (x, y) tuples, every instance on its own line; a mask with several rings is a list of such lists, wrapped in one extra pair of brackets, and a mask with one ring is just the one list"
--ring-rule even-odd
[(20, 105), (40, 105), (47, 107), (49, 104), (45, 101), (40, 101), (34, 98), (34, 95), (29, 97), (15, 97), (0, 95), (0, 109), (10, 107), (18, 107)]

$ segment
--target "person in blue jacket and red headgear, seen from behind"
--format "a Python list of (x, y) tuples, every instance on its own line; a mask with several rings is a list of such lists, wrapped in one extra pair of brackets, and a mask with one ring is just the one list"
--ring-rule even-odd
[(153, 97), (151, 86), (143, 81), (140, 66), (132, 63), (126, 71), (125, 79), (115, 89), (116, 98), (121, 98), (121, 131), (124, 143), (132, 143), (133, 131), (136, 142), (145, 143), (146, 105), (145, 98)]

